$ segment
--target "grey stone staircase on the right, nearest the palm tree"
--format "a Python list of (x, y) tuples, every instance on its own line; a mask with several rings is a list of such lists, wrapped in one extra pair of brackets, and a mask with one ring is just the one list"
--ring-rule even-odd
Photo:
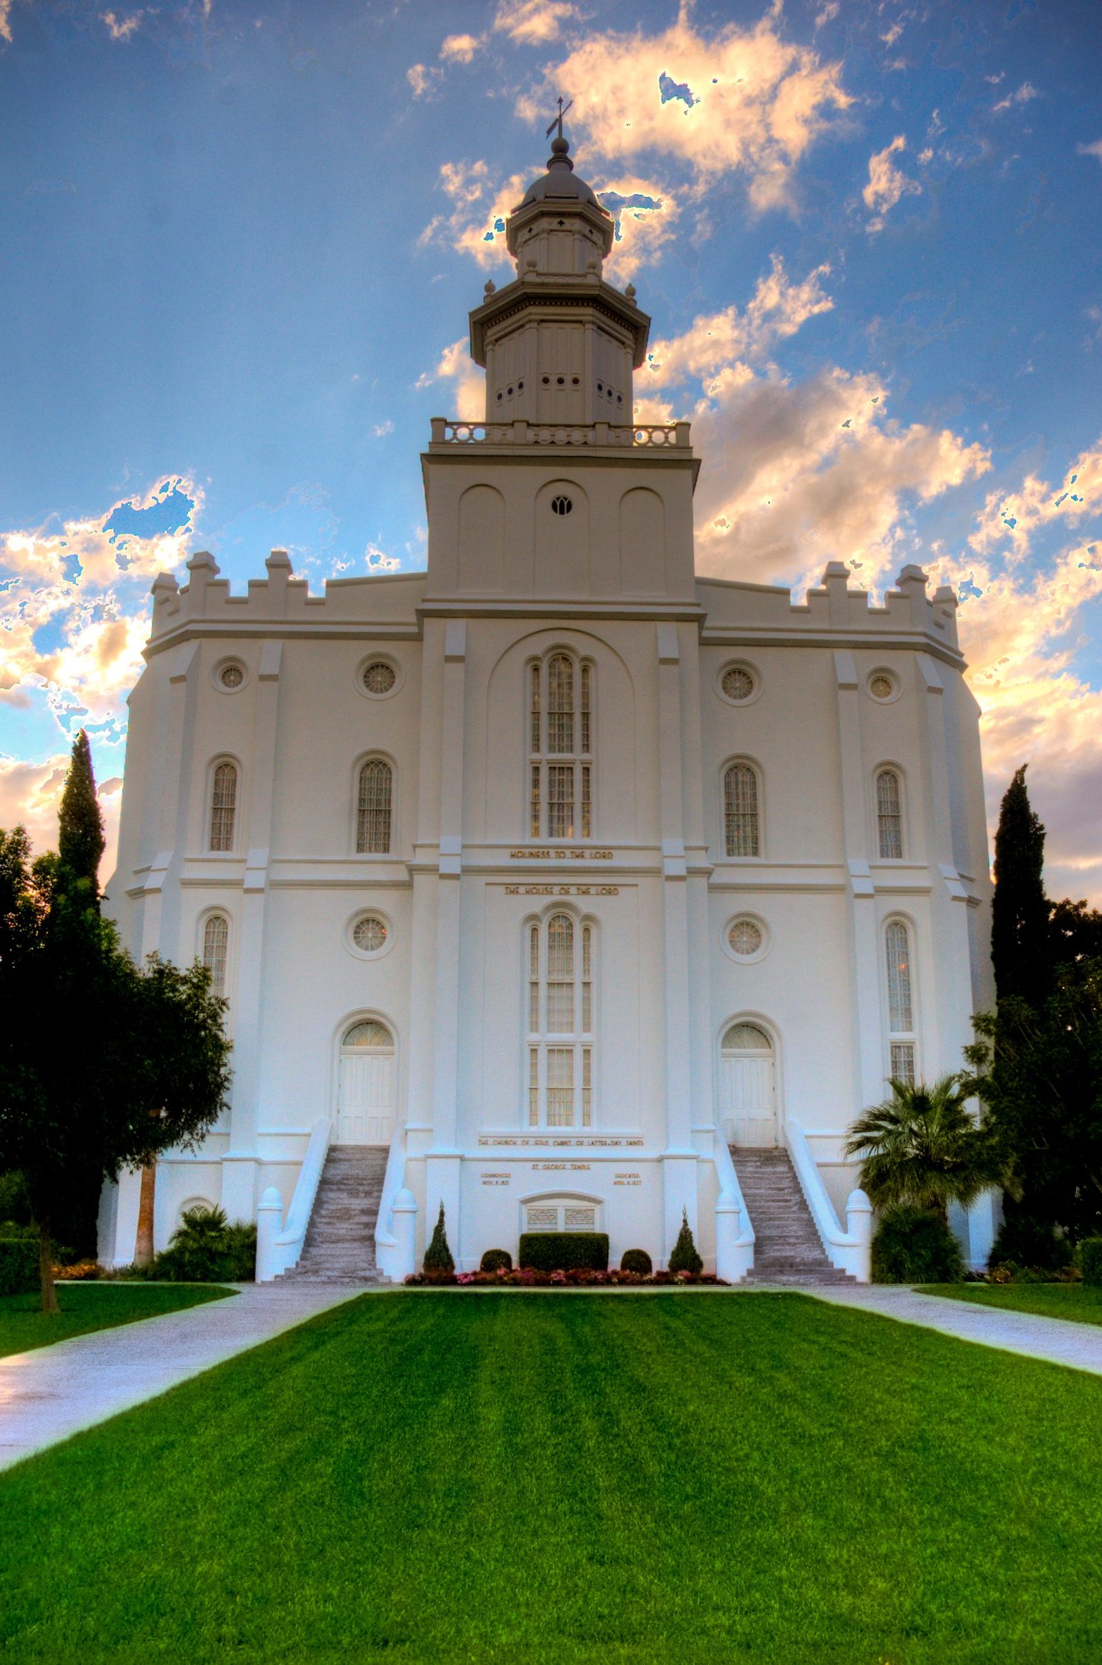
[(782, 1146), (731, 1146), (754, 1227), (754, 1265), (744, 1284), (856, 1284), (826, 1257), (799, 1179)]

